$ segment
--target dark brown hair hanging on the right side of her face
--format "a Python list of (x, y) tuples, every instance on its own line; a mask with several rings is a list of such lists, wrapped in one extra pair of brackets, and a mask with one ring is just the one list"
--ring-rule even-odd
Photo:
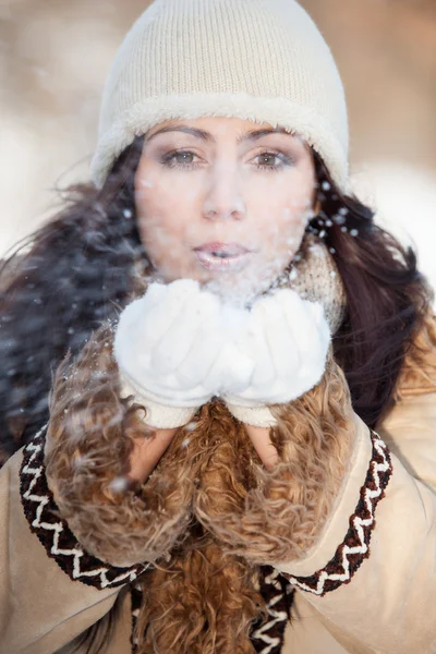
[(322, 209), (308, 229), (330, 249), (347, 294), (334, 339), (354, 411), (375, 427), (388, 409), (413, 335), (433, 294), (416, 255), (374, 221), (374, 211), (341, 193), (315, 155)]

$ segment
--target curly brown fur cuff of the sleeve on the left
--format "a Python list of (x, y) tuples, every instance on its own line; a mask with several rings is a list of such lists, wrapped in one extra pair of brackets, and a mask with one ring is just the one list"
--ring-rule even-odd
[[(185, 537), (195, 476), (186, 455), (165, 458), (147, 483), (129, 487), (134, 438), (150, 436), (143, 409), (119, 399), (111, 328), (100, 328), (53, 383), (47, 480), (86, 550), (114, 566), (155, 561)], [(136, 493), (135, 493), (136, 491)]]

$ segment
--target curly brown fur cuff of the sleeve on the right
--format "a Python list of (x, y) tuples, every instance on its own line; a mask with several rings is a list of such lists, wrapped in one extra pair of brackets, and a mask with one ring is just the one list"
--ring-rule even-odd
[(278, 426), (271, 440), (281, 458), (275, 470), (254, 464), (249, 486), (242, 465), (223, 463), (229, 443), (222, 441), (202, 468), (194, 499), (196, 518), (226, 552), (266, 566), (298, 560), (316, 543), (342, 485), (355, 428), (348, 385), (331, 356), (318, 386), (272, 411)]

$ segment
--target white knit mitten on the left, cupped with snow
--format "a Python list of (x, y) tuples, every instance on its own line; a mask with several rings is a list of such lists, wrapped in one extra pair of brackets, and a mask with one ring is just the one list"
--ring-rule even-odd
[(217, 392), (221, 314), (219, 298), (190, 279), (152, 283), (122, 312), (114, 338), (122, 393), (145, 405), (150, 426), (186, 424)]

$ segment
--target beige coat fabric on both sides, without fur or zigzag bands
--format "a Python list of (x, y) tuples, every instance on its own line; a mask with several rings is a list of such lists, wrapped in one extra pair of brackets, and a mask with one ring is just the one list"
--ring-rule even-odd
[[(408, 355), (396, 399), (377, 429), (391, 463), (383, 445), (375, 437), (372, 441), (355, 416), (358, 438), (349, 472), (318, 543), (304, 559), (278, 566), (296, 588), (286, 654), (436, 653), (434, 323), (428, 322)], [(38, 486), (44, 468), (34, 455), (27, 450), (22, 474), (27, 518), (20, 498), (23, 450), (0, 476), (0, 652), (59, 652), (107, 614), (120, 593), (121, 615), (105, 652), (130, 654), (131, 593), (125, 582), (141, 570), (126, 571), (121, 585), (114, 586), (109, 566), (86, 567), (83, 550), (63, 549), (61, 523), (44, 521), (46, 499)], [(351, 517), (354, 540), (344, 542)], [(55, 558), (47, 556), (36, 532), (46, 545), (49, 541)], [(365, 552), (368, 534), (371, 548)], [(338, 553), (340, 565), (332, 568), (328, 562)], [(71, 580), (58, 565), (66, 559), (70, 573), (81, 580)], [(99, 588), (82, 583), (86, 574), (98, 578)], [(320, 594), (323, 584), (329, 592)]]

